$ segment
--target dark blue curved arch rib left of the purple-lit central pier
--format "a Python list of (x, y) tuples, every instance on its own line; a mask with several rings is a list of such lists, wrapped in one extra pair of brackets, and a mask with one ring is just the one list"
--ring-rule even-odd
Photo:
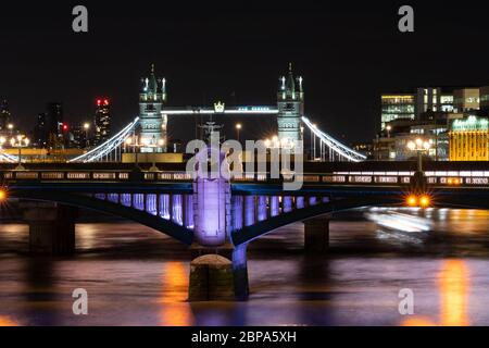
[(191, 245), (193, 240), (193, 232), (191, 229), (180, 226), (172, 221), (159, 217), (142, 210), (125, 207), (106, 200), (100, 200), (90, 196), (55, 191), (46, 195), (29, 190), (13, 190), (9, 192), (9, 197), (36, 201), (51, 201), (96, 210), (102, 213), (133, 220), (141, 225), (151, 227), (170, 237), (173, 237), (186, 245)]

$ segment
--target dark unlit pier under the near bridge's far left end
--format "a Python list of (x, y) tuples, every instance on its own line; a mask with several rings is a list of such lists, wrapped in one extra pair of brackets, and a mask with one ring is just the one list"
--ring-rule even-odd
[(22, 201), (24, 221), (29, 225), (32, 253), (72, 254), (75, 252), (77, 209), (53, 202)]

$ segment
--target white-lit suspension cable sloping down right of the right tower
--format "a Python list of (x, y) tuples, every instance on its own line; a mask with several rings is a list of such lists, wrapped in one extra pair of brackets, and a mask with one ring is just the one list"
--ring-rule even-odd
[(366, 160), (366, 157), (355, 150), (349, 148), (348, 146), (341, 144), (330, 135), (319, 130), (308, 117), (303, 116), (302, 122), (304, 125), (311, 130), (312, 136), (314, 137), (314, 159), (316, 159), (316, 145), (315, 138), (319, 138), (319, 153), (321, 160), (326, 160), (325, 148), (329, 149), (329, 161), (335, 160), (335, 154), (339, 157), (339, 159), (346, 159), (351, 162), (361, 162)]

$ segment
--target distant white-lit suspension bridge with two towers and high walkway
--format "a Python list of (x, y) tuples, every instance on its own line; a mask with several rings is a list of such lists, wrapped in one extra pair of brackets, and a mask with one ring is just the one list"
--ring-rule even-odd
[(71, 162), (120, 162), (122, 153), (127, 150), (125, 147), (126, 140), (136, 134), (142, 140), (141, 152), (164, 152), (168, 142), (166, 136), (168, 116), (181, 117), (188, 115), (215, 117), (233, 115), (275, 116), (277, 120), (276, 138), (279, 145), (302, 141), (304, 130), (309, 130), (311, 154), (314, 160), (360, 162), (366, 159), (364, 154), (321, 130), (305, 115), (303, 78), (294, 77), (291, 65), (288, 73), (279, 78), (276, 105), (226, 107), (222, 102), (215, 102), (213, 108), (167, 107), (165, 105), (166, 87), (164, 78), (155, 77), (154, 66), (152, 65), (150, 76), (141, 79), (139, 115), (108, 141), (83, 156), (72, 159)]

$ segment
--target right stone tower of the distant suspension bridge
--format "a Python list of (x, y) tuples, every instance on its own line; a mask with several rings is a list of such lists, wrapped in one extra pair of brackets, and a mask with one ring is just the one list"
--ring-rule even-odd
[(302, 140), (301, 117), (304, 115), (304, 92), (302, 77), (294, 77), (289, 63), (287, 76), (279, 78), (277, 94), (277, 125), (280, 141)]

